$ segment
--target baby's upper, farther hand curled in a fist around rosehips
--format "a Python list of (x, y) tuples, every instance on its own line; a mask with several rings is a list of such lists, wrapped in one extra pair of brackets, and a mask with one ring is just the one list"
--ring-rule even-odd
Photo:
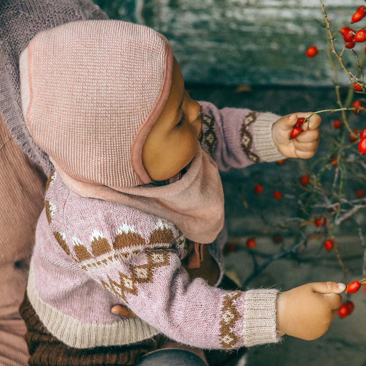
[(307, 122), (302, 125), (303, 132), (294, 139), (290, 138), (290, 132), (295, 126), (297, 119), (308, 117), (308, 113), (296, 113), (281, 117), (272, 126), (272, 139), (275, 142), (280, 153), (289, 158), (309, 159), (317, 151), (319, 145), (319, 125), (321, 118), (314, 115), (309, 120), (309, 129)]

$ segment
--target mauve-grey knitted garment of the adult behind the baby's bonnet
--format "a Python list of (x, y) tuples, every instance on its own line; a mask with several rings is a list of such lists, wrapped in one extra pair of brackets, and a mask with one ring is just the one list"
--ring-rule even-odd
[(10, 134), (48, 176), (52, 164), (26, 128), (20, 102), (19, 55), (40, 31), (75, 20), (107, 19), (89, 0), (0, 1), (0, 113)]

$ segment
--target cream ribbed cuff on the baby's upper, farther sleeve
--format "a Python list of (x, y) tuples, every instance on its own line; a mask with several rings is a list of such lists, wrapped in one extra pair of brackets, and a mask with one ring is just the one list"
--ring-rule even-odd
[(266, 112), (253, 123), (253, 145), (261, 161), (277, 161), (287, 158), (279, 152), (272, 139), (272, 125), (281, 116)]

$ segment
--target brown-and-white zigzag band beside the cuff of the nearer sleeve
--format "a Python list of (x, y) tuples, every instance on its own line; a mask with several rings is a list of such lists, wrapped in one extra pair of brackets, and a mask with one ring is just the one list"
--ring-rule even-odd
[(235, 300), (240, 296), (242, 296), (241, 291), (232, 291), (224, 297), (219, 336), (223, 348), (234, 348), (235, 344), (240, 341), (240, 338), (232, 332), (234, 323), (241, 317), (235, 307)]

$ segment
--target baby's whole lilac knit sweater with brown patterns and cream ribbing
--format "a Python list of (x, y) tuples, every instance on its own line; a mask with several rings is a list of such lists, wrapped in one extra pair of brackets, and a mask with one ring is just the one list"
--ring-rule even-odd
[[(271, 137), (279, 116), (201, 106), (201, 146), (219, 169), (283, 158)], [(225, 240), (223, 230), (209, 244), (219, 281)], [(27, 295), (49, 332), (76, 348), (131, 344), (157, 333), (201, 348), (278, 341), (277, 290), (228, 292), (190, 281), (181, 265), (185, 246), (172, 223), (81, 197), (55, 171), (37, 224)], [(112, 314), (116, 303), (138, 318)]]

